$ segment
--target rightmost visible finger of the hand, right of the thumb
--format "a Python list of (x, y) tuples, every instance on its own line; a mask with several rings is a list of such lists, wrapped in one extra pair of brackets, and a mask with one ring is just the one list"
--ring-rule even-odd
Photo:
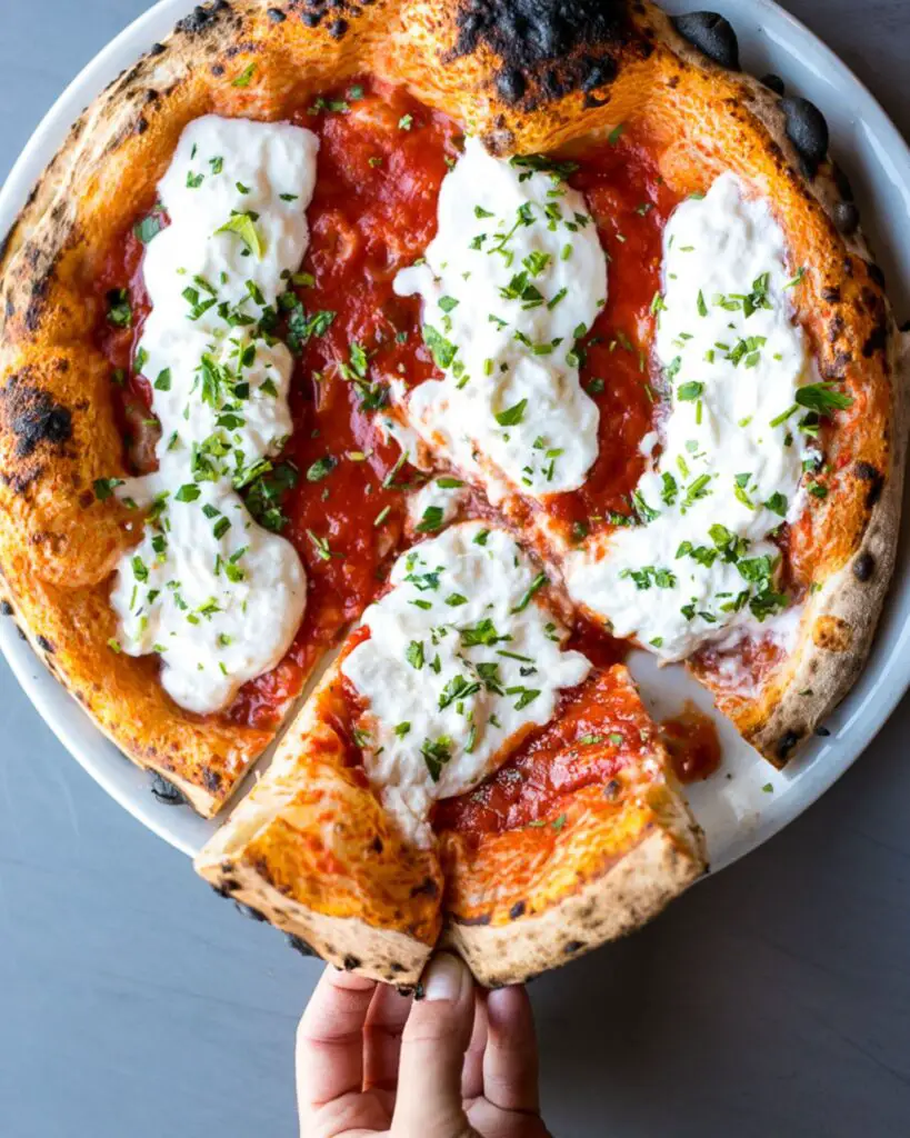
[(537, 1111), (537, 1038), (528, 993), (499, 988), (487, 996), (483, 1095), (504, 1111)]

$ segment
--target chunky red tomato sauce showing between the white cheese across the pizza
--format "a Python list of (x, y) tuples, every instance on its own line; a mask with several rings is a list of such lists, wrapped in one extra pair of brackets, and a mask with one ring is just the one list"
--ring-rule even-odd
[[(422, 478), (399, 462), (398, 445), (381, 430), (388, 385), (399, 379), (411, 387), (438, 372), (422, 341), (420, 300), (397, 297), (392, 281), (435, 236), (439, 187), (461, 146), (454, 122), (403, 89), (370, 79), (312, 100), (292, 121), (320, 139), (307, 211), (311, 242), (293, 294), (305, 318), (325, 315), (318, 333), (299, 348), (290, 391), (293, 434), (280, 460), (297, 471), (296, 486), (281, 503), (282, 534), (306, 568), (306, 615), (286, 659), (245, 685), (226, 712), (232, 721), (263, 728), (278, 726), (322, 652), (375, 599), (403, 544), (406, 495)], [(578, 170), (570, 181), (585, 193), (610, 258), (607, 303), (582, 343), (581, 382), (601, 410), (601, 448), (585, 486), (551, 496), (546, 509), (581, 539), (611, 525), (611, 511), (629, 512), (629, 494), (644, 469), (639, 444), (657, 407), (651, 307), (660, 288), (663, 225), (678, 199), (661, 181), (646, 140), (622, 134), (573, 160)], [(167, 224), (156, 208), (149, 200), (135, 225), (115, 234), (93, 284), (101, 312), (98, 343), (116, 379), (115, 407), (136, 472), (154, 469), (154, 440), (135, 446), (154, 422), (150, 386), (136, 374), (134, 360), (149, 311), (140, 223), (151, 217)], [(129, 296), (129, 327), (115, 327), (104, 315), (108, 294), (119, 289)], [(286, 311), (282, 318), (286, 338), (293, 316)], [(526, 508), (539, 509), (531, 502)], [(598, 668), (620, 660), (627, 649), (586, 621), (576, 627), (571, 646)], [(547, 786), (561, 793), (609, 776), (618, 759), (606, 751), (592, 757), (593, 749), (582, 748), (570, 751), (574, 758), (552, 762), (586, 734), (592, 715), (605, 712), (599, 704), (586, 710), (569, 700), (565, 714), (564, 725), (538, 733), (522, 758), (506, 765), (512, 774), (483, 791), (489, 801), (469, 797), (470, 809), (488, 819), (485, 825), (530, 817), (543, 809)], [(539, 781), (544, 789), (537, 798), (514, 797), (508, 780), (516, 770), (522, 784)]]

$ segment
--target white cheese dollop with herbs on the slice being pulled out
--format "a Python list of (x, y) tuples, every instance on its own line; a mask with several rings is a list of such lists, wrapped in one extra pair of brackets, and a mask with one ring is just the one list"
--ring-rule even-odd
[(495, 769), (590, 665), (562, 651), (565, 629), (538, 604), (540, 579), (502, 529), (453, 526), (403, 554), (390, 582), (342, 671), (367, 703), (367, 775), (403, 831), (425, 843), (432, 801)]

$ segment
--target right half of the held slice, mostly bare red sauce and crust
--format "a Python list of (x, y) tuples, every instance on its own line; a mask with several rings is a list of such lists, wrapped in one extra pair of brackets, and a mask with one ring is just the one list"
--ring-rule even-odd
[(441, 802), (445, 942), (487, 987), (639, 927), (705, 868), (622, 665), (593, 674), (480, 786)]

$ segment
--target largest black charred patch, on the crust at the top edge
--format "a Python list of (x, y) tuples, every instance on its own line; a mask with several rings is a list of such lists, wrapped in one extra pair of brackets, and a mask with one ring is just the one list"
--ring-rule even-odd
[(615, 63), (605, 55), (572, 56), (582, 47), (627, 44), (632, 32), (626, 8), (622, 0), (466, 0), (456, 17), (458, 38), (450, 58), (486, 43), (502, 60), (494, 82), (508, 104), (520, 102), (532, 81), (545, 99), (578, 89), (590, 99), (595, 88), (615, 77)]

